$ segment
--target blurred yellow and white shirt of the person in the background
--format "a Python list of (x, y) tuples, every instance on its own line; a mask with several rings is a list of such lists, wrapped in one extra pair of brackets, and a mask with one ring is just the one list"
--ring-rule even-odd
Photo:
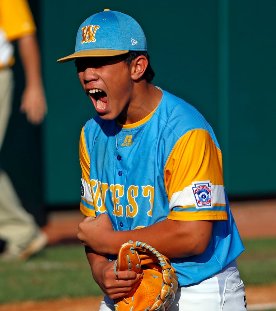
[(36, 31), (35, 22), (26, 0), (0, 2), (0, 69), (13, 64), (12, 41)]

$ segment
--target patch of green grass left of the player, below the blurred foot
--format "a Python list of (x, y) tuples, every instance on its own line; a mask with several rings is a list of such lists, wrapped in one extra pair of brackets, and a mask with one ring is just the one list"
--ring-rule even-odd
[(47, 247), (26, 262), (1, 263), (0, 303), (102, 295), (82, 245)]

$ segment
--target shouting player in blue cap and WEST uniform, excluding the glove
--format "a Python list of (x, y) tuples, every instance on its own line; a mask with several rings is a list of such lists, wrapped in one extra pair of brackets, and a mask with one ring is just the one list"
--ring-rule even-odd
[[(105, 298), (100, 310), (141, 281), (114, 271), (128, 240), (170, 258), (179, 289), (171, 311), (246, 310), (235, 259), (244, 250), (230, 211), (222, 154), (210, 125), (184, 100), (154, 86), (143, 30), (105, 10), (77, 32), (80, 82), (97, 115), (80, 137), (78, 238)], [(96, 217), (96, 218), (95, 218)]]

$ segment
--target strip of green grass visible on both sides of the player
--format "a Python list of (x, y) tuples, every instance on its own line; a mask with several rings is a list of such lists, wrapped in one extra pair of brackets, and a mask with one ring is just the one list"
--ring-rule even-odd
[[(246, 240), (244, 245), (246, 252), (237, 260), (244, 283), (275, 283), (276, 239)], [(1, 263), (0, 275), (0, 303), (103, 295), (82, 245), (47, 247), (26, 262)]]

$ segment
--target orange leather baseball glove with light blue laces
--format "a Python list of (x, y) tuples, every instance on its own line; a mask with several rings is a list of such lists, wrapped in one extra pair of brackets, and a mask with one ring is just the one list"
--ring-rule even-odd
[(166, 311), (175, 299), (178, 278), (168, 258), (143, 242), (129, 241), (119, 249), (114, 266), (117, 271), (143, 274), (138, 287), (115, 300), (116, 311)]

